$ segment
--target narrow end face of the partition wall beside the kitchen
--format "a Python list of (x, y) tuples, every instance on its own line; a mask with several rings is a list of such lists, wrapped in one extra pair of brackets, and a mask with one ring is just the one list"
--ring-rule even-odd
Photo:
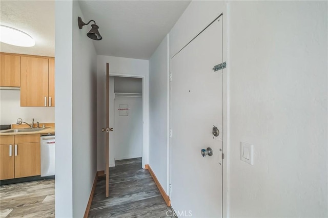
[(72, 1), (55, 1), (56, 217), (73, 217), (72, 11)]

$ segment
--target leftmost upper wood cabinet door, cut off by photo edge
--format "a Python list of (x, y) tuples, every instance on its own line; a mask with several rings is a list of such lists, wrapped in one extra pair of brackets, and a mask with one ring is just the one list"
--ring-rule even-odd
[(0, 56), (0, 86), (20, 86), (20, 57), (16, 55)]

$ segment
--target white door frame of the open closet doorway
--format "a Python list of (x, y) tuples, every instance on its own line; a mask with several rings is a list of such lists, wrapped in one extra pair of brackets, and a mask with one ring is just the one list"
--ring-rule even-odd
[(141, 78), (142, 79), (142, 157), (141, 157), (141, 166), (145, 169), (145, 165), (148, 163), (148, 146), (146, 144), (146, 98), (148, 95), (148, 90), (146, 89), (146, 76), (145, 75), (136, 75), (136, 74), (120, 74), (120, 73), (111, 73), (109, 76), (114, 77), (130, 77), (130, 78)]

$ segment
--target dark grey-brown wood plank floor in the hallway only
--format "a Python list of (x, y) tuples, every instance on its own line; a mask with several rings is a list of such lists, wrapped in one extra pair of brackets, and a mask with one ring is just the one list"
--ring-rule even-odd
[(106, 178), (99, 177), (89, 217), (171, 217), (160, 192), (141, 158), (115, 161), (109, 169), (109, 197)]

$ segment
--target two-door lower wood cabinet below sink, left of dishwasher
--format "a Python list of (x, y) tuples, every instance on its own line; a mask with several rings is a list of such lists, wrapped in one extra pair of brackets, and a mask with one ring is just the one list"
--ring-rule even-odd
[(1, 136), (0, 144), (0, 180), (40, 175), (39, 134)]

